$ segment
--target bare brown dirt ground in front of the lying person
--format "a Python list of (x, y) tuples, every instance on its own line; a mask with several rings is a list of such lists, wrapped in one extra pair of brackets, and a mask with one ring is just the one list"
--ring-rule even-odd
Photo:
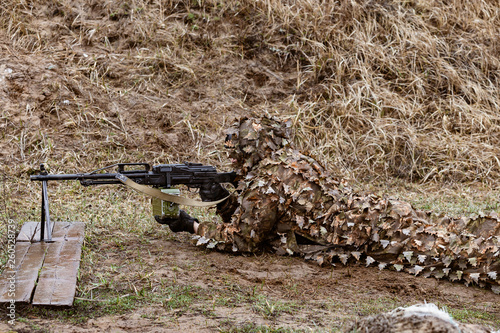
[[(109, 278), (120, 281), (128, 276), (131, 284), (137, 283), (134, 290), (141, 286), (140, 273), (153, 295), (149, 304), (98, 316), (78, 300), (69, 316), (60, 314), (69, 310), (41, 312), (39, 317), (40, 312), (26, 309), (27, 320), (16, 324), (17, 332), (246, 332), (266, 327), (329, 332), (346, 329), (356, 318), (423, 302), (445, 306), (452, 314), (457, 313), (453, 310), (482, 312), (498, 320), (500, 313), (498, 295), (447, 281), (362, 266), (318, 267), (272, 254), (210, 252), (183, 236), (149, 237), (146, 243), (126, 239), (120, 248), (95, 245), (101, 254), (94, 274), (115, 265), (118, 269)], [(168, 305), (169, 298), (160, 297), (158, 290), (172, 286), (177, 291), (191, 290), (192, 298), (185, 304)], [(185, 296), (183, 292), (172, 295)], [(8, 326), (1, 325), (1, 331), (8, 331)]]

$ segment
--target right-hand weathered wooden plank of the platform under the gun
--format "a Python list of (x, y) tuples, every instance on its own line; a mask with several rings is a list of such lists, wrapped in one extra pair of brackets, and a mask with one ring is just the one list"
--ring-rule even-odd
[(34, 305), (71, 306), (76, 292), (85, 224), (57, 222), (52, 234), (38, 285)]

